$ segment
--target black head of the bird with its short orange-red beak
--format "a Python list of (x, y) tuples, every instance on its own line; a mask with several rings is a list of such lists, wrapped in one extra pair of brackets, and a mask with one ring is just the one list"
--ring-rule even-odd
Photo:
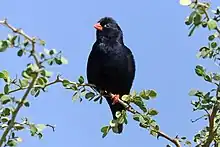
[(95, 25), (97, 40), (118, 41), (123, 43), (123, 33), (111, 17), (101, 18)]

